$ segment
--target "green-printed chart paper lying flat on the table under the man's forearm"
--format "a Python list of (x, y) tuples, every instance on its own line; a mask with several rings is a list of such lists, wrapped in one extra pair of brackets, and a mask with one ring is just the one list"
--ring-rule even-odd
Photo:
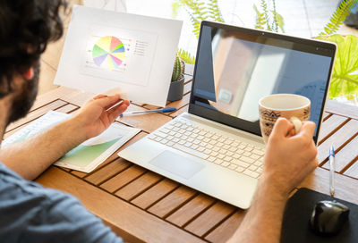
[[(67, 113), (50, 111), (37, 120), (30, 122), (28, 126), (15, 132), (9, 138), (6, 138), (2, 143), (2, 147), (29, 139), (68, 119), (70, 116)], [(115, 122), (107, 130), (98, 135), (98, 137), (84, 141), (54, 164), (80, 172), (91, 172), (140, 131), (140, 129), (130, 128)]]

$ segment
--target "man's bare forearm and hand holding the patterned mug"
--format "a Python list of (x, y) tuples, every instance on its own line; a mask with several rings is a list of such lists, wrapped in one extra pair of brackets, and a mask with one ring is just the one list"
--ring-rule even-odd
[(286, 119), (277, 120), (251, 207), (228, 242), (279, 242), (289, 194), (318, 164), (312, 140), (315, 124), (307, 121), (297, 135), (287, 136), (293, 128)]

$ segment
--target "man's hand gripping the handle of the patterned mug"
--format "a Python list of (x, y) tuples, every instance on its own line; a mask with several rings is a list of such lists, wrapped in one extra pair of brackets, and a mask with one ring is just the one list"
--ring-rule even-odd
[(263, 178), (282, 197), (300, 184), (318, 165), (317, 148), (313, 142), (315, 123), (303, 122), (298, 134), (291, 136), (294, 125), (279, 118), (268, 138)]

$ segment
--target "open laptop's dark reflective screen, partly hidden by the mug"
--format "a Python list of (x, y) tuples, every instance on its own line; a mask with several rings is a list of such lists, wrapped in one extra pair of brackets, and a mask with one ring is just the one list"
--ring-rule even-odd
[(260, 97), (297, 94), (311, 100), (317, 137), (335, 50), (316, 40), (203, 22), (190, 113), (260, 135)]

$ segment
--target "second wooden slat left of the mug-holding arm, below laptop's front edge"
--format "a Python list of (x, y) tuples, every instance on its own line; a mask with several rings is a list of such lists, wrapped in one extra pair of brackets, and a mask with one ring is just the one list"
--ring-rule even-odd
[(188, 224), (185, 230), (202, 237), (207, 234), (209, 230), (214, 229), (217, 224), (225, 220), (234, 210), (235, 207), (233, 205), (218, 201), (205, 211), (204, 214), (201, 214), (197, 219)]

